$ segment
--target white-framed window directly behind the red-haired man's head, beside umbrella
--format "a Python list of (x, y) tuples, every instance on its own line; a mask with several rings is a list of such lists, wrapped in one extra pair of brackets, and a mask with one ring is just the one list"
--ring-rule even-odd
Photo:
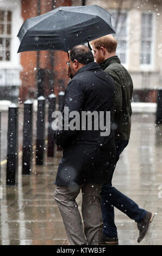
[(118, 13), (116, 10), (109, 10), (112, 14), (112, 25), (116, 32), (114, 37), (117, 40), (116, 54), (122, 64), (127, 62), (127, 13), (123, 10)]

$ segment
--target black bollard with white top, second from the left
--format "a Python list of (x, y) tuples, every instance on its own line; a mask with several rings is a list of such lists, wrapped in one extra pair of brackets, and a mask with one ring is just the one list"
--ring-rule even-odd
[(22, 148), (22, 174), (32, 172), (32, 153), (33, 153), (33, 102), (24, 102), (23, 115), (23, 148)]

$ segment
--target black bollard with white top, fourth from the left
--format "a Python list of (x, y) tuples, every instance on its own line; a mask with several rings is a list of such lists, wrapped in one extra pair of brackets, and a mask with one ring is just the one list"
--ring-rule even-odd
[(48, 96), (48, 144), (47, 156), (54, 157), (54, 131), (52, 129), (52, 113), (55, 111), (55, 95), (52, 93)]

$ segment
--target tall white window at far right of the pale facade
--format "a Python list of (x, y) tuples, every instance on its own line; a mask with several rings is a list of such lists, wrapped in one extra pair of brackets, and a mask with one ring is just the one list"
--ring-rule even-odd
[(151, 64), (152, 62), (152, 25), (153, 15), (152, 13), (142, 13), (142, 26), (141, 26), (141, 54), (140, 64)]

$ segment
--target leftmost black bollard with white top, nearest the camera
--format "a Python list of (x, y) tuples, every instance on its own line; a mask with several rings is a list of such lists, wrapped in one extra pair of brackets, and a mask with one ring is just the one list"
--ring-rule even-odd
[(7, 185), (17, 185), (18, 176), (18, 107), (13, 103), (8, 114)]

